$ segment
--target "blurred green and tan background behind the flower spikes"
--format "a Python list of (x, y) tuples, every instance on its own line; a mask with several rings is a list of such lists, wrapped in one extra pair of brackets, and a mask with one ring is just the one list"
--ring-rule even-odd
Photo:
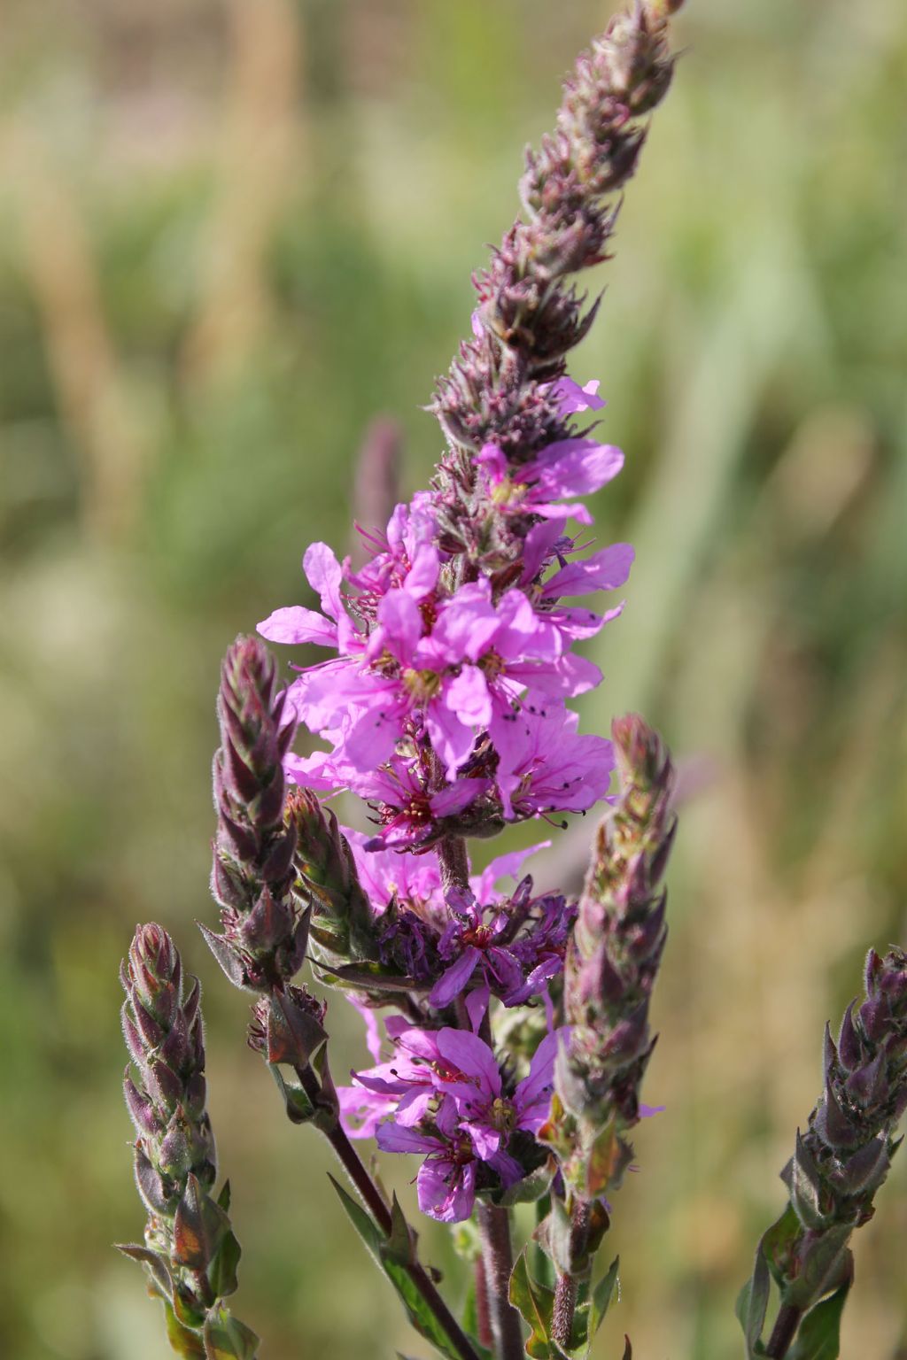
[[(642, 1360), (740, 1353), (733, 1300), (819, 1091), (823, 1023), (870, 942), (904, 942), (907, 903), (907, 10), (688, 10), (572, 366), (602, 379), (627, 452), (600, 532), (638, 547), (585, 722), (640, 709), (685, 789), (646, 1091), (668, 1111), (616, 1206), (602, 1360), (624, 1331)], [(151, 918), (205, 987), (237, 1310), (264, 1355), (424, 1353), (193, 926), (212, 917), (213, 692), (238, 631), (311, 602), (306, 544), (345, 548), (373, 416), (401, 423), (403, 491), (424, 484), (439, 437), (420, 405), (468, 332), (469, 271), (606, 16), (592, 0), (5, 0), (12, 1360), (169, 1353), (110, 1248), (141, 1231), (117, 964)], [(336, 1065), (362, 1057), (349, 1028)], [(457, 1297), (443, 1234), (423, 1238)], [(904, 1356), (907, 1157), (859, 1239), (843, 1355)]]

